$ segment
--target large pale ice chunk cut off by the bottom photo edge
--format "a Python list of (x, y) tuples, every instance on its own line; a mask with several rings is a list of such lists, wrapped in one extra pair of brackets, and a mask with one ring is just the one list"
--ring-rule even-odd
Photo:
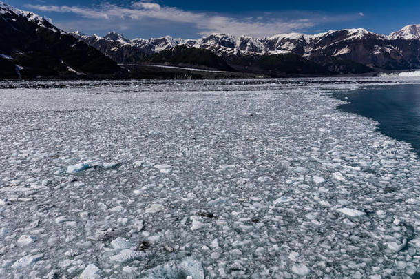
[(204, 279), (202, 263), (194, 258), (186, 258), (178, 264), (176, 262), (169, 262), (165, 265), (158, 265), (145, 273), (145, 279), (189, 277), (193, 279)]

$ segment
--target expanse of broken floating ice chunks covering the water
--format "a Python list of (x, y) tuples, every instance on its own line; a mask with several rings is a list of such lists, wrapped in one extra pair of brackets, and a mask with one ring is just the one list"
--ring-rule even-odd
[(419, 276), (419, 157), (333, 98), (401, 83), (3, 81), (0, 278)]

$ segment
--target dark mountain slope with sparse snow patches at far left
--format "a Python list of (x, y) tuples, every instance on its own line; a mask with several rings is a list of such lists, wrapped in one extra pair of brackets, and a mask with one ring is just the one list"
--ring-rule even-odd
[(46, 19), (0, 2), (0, 79), (114, 76), (121, 68)]

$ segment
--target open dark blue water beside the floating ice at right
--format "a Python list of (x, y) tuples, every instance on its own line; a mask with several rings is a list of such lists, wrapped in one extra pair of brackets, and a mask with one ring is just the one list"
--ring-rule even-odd
[(420, 156), (420, 85), (384, 86), (335, 94), (339, 109), (378, 121), (379, 131), (411, 143)]

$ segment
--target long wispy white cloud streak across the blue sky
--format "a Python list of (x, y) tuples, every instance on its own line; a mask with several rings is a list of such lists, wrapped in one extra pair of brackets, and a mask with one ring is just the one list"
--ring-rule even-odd
[(198, 30), (198, 34), (229, 33), (234, 35), (249, 35), (253, 37), (266, 37), (282, 32), (300, 32), (316, 25), (315, 17), (282, 19), (266, 14), (266, 17), (229, 17), (221, 14), (207, 12), (190, 12), (176, 7), (161, 6), (154, 1), (136, 1), (128, 8), (111, 3), (100, 6), (47, 6), (28, 4), (27, 8), (43, 12), (73, 13), (79, 17), (92, 20), (101, 20), (118, 23), (119, 25), (133, 25), (145, 23), (149, 20), (188, 24)]

